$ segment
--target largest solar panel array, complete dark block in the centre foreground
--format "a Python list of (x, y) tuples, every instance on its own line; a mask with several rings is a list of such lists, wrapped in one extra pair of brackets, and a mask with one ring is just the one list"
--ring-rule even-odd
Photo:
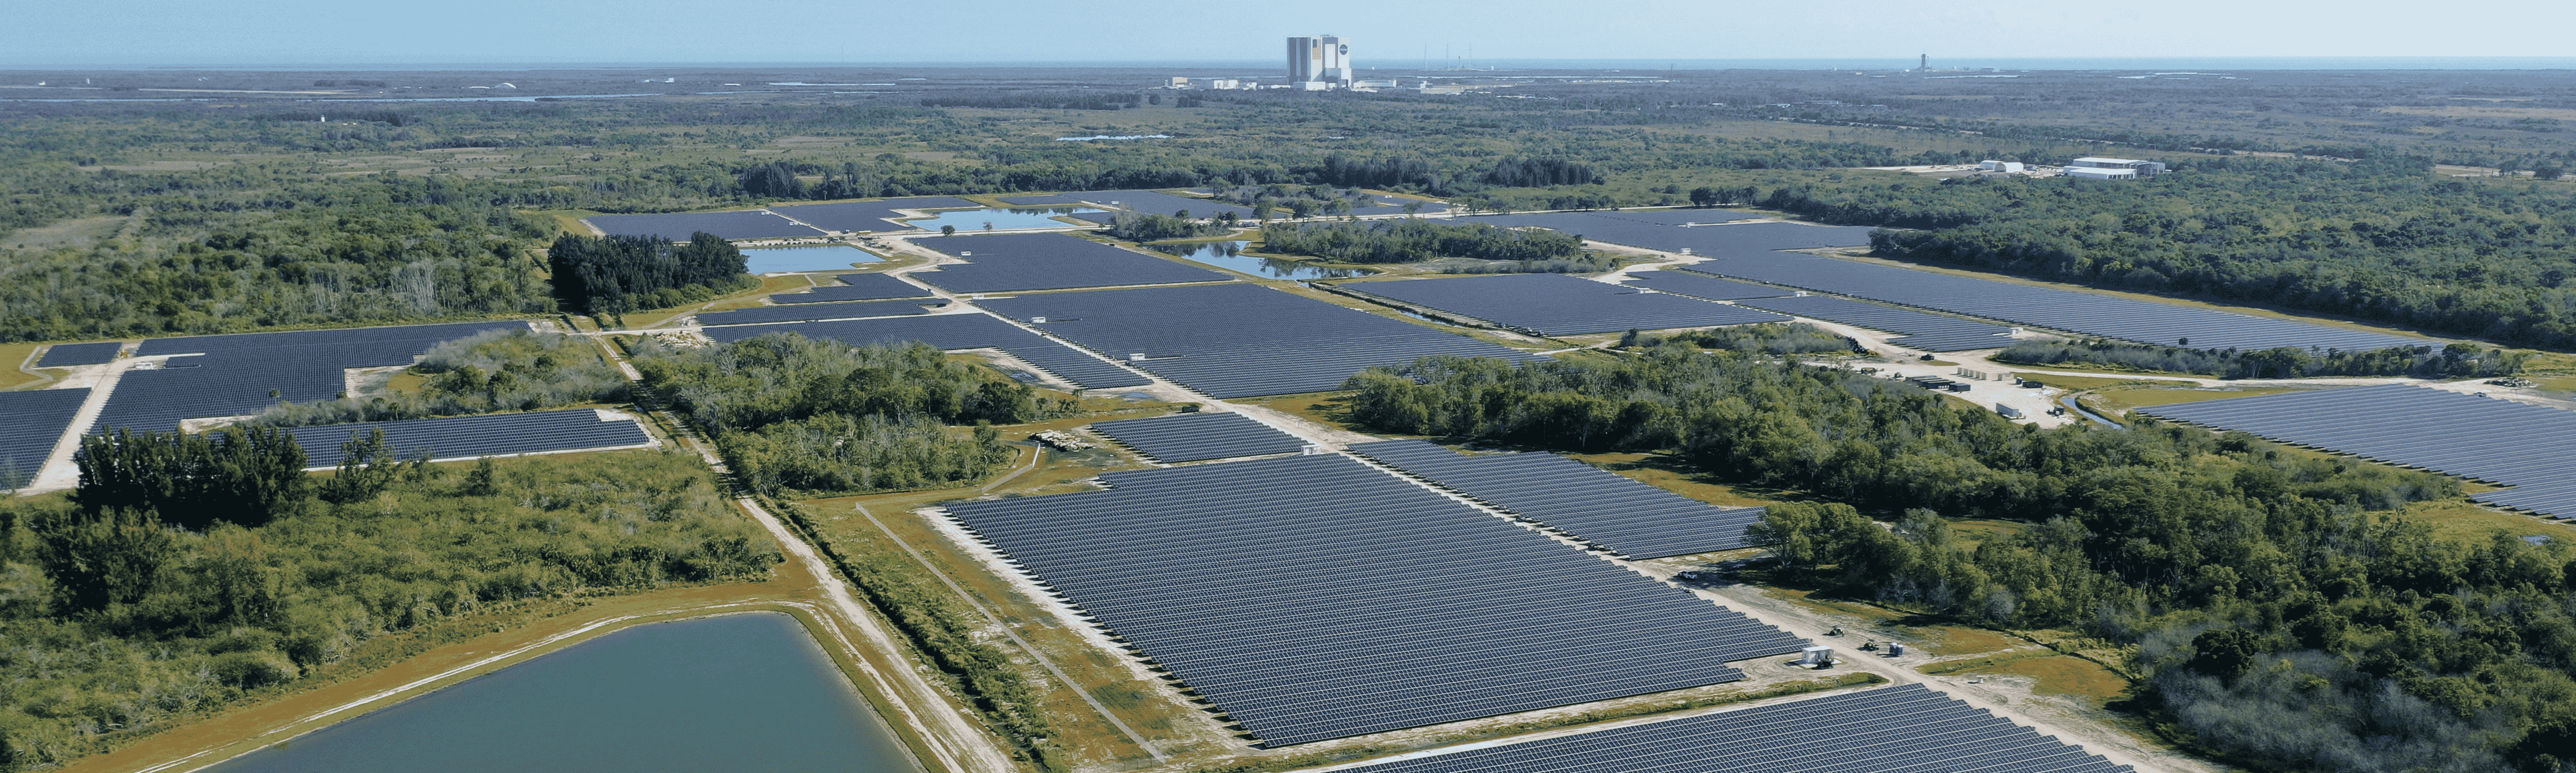
[(1726, 683), (1803, 644), (1340, 453), (1100, 479), (948, 513), (1267, 747)]

